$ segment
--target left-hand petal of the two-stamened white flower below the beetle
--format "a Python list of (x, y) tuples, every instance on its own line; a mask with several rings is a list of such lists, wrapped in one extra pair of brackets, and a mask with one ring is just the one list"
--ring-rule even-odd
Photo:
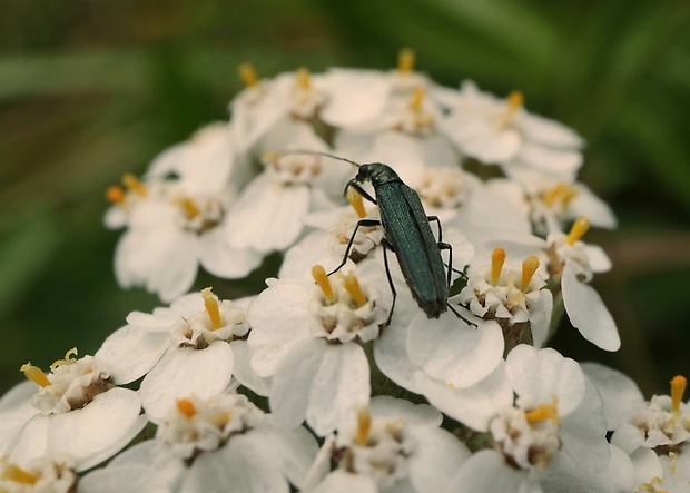
[(249, 305), (247, 319), (252, 367), (272, 376), (293, 344), (310, 337), (305, 321), (312, 296), (304, 286), (285, 283), (263, 290)]

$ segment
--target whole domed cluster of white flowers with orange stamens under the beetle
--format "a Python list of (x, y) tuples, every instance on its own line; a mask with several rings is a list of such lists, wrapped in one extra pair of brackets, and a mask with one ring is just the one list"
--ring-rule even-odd
[[(563, 310), (620, 346), (590, 285), (611, 265), (582, 237), (615, 219), (576, 181), (582, 139), (520, 92), (441, 87), (413, 62), (243, 66), (228, 122), (108, 190), (118, 282), (169, 306), (93, 356), (24, 365), (0, 400), (0, 491), (690, 491), (684, 378), (645, 402), (544, 347)], [(373, 188), (343, 161), (371, 164)], [(407, 230), (426, 243), (392, 239)], [(199, 266), (238, 279), (276, 252), (255, 296), (188, 294)]]

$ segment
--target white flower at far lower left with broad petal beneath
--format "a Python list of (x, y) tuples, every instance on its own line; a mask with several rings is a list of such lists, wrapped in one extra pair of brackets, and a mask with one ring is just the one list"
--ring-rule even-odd
[(12, 463), (23, 467), (45, 455), (66, 454), (73, 459), (76, 471), (85, 471), (115, 455), (146, 425), (139, 416), (139, 395), (115, 387), (107, 364), (92, 356), (72, 359), (75, 352), (53, 363), (48, 375), (30, 364), (23, 366), (40, 385), (33, 403), (41, 413), (9, 444)]

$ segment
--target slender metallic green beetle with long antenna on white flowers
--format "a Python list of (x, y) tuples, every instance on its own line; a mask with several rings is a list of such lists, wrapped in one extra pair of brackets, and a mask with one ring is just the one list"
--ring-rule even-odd
[[(397, 257), (403, 277), (410, 288), (412, 297), (428, 318), (438, 318), (448, 307), (448, 292), (451, 286), (451, 269), (453, 265), (453, 249), (442, 239), (441, 220), (437, 216), (427, 216), (420, 195), (405, 185), (401, 177), (387, 165), (381, 162), (358, 164), (349, 159), (341, 158), (321, 151), (284, 151), (283, 154), (306, 154), (325, 156), (332, 159), (349, 162), (357, 167), (357, 175), (345, 186), (357, 190), (362, 197), (375, 204), (381, 213), (381, 220), (359, 219), (347, 243), (343, 262), (328, 275), (343, 268), (353, 241), (361, 227), (381, 226), (384, 231), (384, 264), (386, 276), (393, 293), (393, 304), (386, 325), (390, 325), (397, 293), (393, 285), (386, 250), (391, 250)], [(372, 197), (362, 185), (364, 181), (372, 184), (376, 198)], [(434, 237), (431, 223), (435, 221), (438, 227), (438, 240)], [(448, 268), (441, 257), (441, 250), (448, 250)], [(455, 312), (453, 308), (451, 308)], [(457, 314), (456, 314), (457, 315)], [(459, 315), (460, 316), (460, 315)]]

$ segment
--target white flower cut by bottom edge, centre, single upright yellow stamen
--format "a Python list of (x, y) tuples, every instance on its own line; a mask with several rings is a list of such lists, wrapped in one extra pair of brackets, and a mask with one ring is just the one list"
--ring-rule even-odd
[[(356, 414), (356, 418), (355, 418)], [(428, 405), (374, 397), (326, 437), (305, 492), (440, 491), (470, 455)], [(328, 472), (329, 462), (336, 469)]]

